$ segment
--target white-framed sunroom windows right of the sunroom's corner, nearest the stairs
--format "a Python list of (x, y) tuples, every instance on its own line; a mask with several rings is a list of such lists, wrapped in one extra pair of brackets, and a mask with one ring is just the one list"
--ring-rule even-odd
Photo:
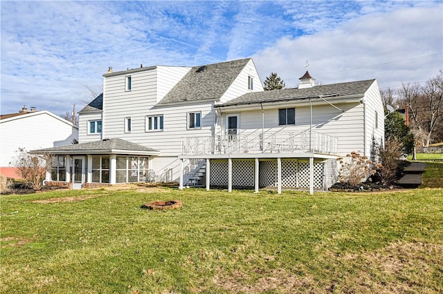
[(118, 156), (117, 183), (147, 182), (149, 157)]

